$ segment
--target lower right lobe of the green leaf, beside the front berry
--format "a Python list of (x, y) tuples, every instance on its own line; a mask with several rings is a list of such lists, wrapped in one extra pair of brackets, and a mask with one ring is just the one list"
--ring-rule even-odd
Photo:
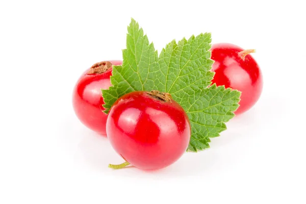
[(188, 150), (208, 148), (210, 137), (218, 137), (226, 130), (224, 122), (235, 116), (233, 112), (239, 107), (240, 94), (240, 91), (213, 84), (197, 95), (194, 103), (185, 109), (192, 129)]

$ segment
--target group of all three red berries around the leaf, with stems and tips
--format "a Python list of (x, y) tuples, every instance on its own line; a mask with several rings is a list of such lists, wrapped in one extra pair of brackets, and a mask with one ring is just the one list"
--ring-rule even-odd
[[(236, 114), (250, 109), (259, 99), (263, 79), (253, 50), (228, 43), (212, 46), (212, 83), (241, 91)], [(135, 91), (120, 97), (108, 115), (101, 89), (111, 86), (112, 65), (122, 61), (94, 64), (80, 77), (73, 90), (75, 114), (89, 129), (107, 134), (117, 153), (126, 161), (111, 168), (132, 164), (141, 169), (164, 168), (186, 151), (191, 134), (188, 116), (170, 94), (159, 91)]]

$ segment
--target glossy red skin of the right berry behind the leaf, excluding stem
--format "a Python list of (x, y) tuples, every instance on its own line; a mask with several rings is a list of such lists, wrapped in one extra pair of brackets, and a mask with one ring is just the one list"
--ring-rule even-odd
[(258, 101), (263, 89), (260, 67), (251, 55), (241, 59), (238, 53), (243, 49), (234, 44), (218, 43), (212, 46), (212, 70), (215, 71), (213, 83), (217, 86), (241, 91), (240, 107), (236, 115), (249, 110)]

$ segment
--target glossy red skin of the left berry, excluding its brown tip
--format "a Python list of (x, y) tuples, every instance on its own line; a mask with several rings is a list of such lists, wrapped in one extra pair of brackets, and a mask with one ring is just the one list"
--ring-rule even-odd
[[(110, 61), (113, 65), (120, 65), (122, 61)], [(105, 108), (101, 89), (111, 86), (112, 69), (104, 73), (87, 74), (87, 69), (78, 80), (73, 90), (72, 105), (75, 114), (89, 129), (99, 134), (106, 134), (106, 120), (108, 115)]]

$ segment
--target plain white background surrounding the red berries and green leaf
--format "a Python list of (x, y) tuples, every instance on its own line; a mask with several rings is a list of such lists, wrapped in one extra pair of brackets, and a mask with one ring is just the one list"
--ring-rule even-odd
[[(256, 48), (264, 75), (210, 149), (159, 171), (109, 169), (122, 159), (71, 106), (131, 17), (158, 50), (201, 32)], [(305, 19), (302, 1), (1, 1), (0, 203), (306, 203)]]

